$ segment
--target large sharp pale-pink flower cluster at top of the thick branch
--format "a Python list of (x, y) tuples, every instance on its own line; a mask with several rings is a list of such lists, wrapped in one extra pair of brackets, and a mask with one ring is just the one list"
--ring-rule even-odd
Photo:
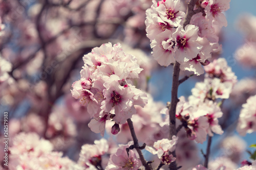
[(202, 65), (207, 65), (211, 53), (220, 49), (217, 33), (226, 26), (222, 12), (229, 8), (230, 0), (200, 2), (195, 8), (201, 12), (186, 26), (183, 26), (185, 13), (179, 0), (153, 1), (146, 10), (147, 37), (151, 40), (153, 57), (160, 65), (168, 66), (177, 61), (182, 70), (201, 75)]

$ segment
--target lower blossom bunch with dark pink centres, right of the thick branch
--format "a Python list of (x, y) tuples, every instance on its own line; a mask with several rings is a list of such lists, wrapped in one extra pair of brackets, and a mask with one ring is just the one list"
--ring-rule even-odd
[(180, 98), (176, 110), (176, 118), (184, 126), (187, 137), (199, 143), (206, 140), (207, 134), (213, 136), (212, 132), (223, 133), (218, 121), (222, 114), (220, 107), (213, 101), (192, 105), (186, 102), (183, 96)]

